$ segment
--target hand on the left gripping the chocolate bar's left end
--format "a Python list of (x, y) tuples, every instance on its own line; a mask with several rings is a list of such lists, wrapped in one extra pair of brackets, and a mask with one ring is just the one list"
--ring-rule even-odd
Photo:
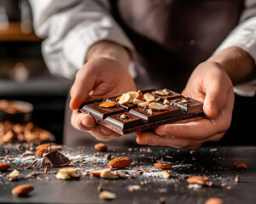
[(127, 68), (117, 59), (96, 57), (90, 59), (77, 72), (71, 88), (70, 108), (73, 110), (71, 123), (80, 131), (90, 132), (99, 140), (119, 137), (107, 127), (96, 124), (90, 114), (78, 111), (79, 106), (89, 100), (117, 96), (136, 90), (136, 85)]

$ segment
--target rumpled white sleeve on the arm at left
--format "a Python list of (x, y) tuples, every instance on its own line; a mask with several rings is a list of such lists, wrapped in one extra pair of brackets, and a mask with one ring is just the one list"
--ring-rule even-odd
[(91, 45), (101, 40), (119, 43), (134, 54), (125, 32), (108, 13), (104, 0), (30, 0), (34, 29), (45, 38), (44, 61), (52, 74), (73, 80)]

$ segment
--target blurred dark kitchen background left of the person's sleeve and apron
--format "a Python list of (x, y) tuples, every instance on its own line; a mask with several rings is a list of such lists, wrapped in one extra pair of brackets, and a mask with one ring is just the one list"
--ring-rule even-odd
[(0, 99), (32, 103), (32, 122), (61, 143), (69, 82), (49, 74), (41, 42), (28, 1), (0, 0)]

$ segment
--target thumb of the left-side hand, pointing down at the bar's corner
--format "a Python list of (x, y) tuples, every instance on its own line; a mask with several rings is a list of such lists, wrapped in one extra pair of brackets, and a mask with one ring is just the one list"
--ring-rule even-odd
[(70, 91), (71, 100), (70, 100), (70, 108), (72, 110), (79, 109), (79, 106), (88, 101), (90, 91), (96, 85), (96, 77), (95, 72), (86, 69), (86, 64), (82, 67), (82, 69), (77, 73), (76, 79), (73, 83), (73, 86)]

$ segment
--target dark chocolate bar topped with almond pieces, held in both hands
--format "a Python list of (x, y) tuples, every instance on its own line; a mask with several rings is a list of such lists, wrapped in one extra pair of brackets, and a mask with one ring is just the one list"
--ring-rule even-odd
[(90, 113), (97, 123), (123, 135), (205, 116), (202, 106), (195, 99), (164, 88), (88, 101), (80, 106), (79, 111)]

